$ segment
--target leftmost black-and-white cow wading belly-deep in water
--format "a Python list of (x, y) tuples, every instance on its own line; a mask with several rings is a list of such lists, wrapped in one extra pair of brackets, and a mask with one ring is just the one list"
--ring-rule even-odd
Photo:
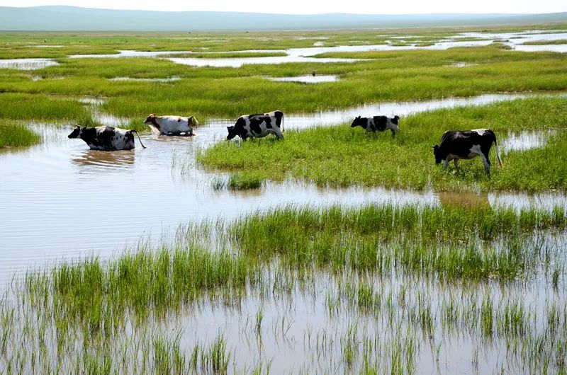
[(77, 126), (67, 138), (80, 138), (89, 145), (91, 150), (117, 151), (135, 149), (134, 134), (142, 144), (142, 139), (137, 132), (132, 130), (118, 129), (117, 127), (80, 127)]

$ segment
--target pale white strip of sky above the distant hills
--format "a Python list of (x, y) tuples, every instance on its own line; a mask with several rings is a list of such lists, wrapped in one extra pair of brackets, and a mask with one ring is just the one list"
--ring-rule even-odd
[(0, 6), (71, 5), (151, 11), (240, 11), (258, 13), (555, 13), (566, 0), (0, 0)]

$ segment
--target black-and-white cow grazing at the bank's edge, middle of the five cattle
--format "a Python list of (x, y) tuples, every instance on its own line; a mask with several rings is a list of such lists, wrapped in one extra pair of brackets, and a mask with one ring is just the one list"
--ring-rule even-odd
[(228, 137), (230, 140), (236, 136), (247, 138), (262, 138), (268, 134), (275, 134), (278, 139), (283, 139), (283, 112), (275, 110), (270, 113), (257, 115), (245, 115), (238, 117), (236, 124), (228, 129)]

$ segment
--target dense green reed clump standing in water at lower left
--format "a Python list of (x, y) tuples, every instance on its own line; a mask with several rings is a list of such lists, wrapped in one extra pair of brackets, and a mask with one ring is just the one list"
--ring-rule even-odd
[[(200, 248), (161, 250), (157, 253), (124, 255), (103, 265), (97, 259), (77, 264), (64, 263), (52, 272), (52, 282), (30, 275), (32, 295), (52, 294), (55, 310), (67, 321), (77, 321), (91, 331), (105, 330), (120, 323), (126, 310), (137, 316), (162, 314), (210, 296), (220, 289), (223, 295), (240, 298), (258, 269), (254, 262), (227, 252), (210, 253)], [(116, 321), (118, 319), (118, 321)]]

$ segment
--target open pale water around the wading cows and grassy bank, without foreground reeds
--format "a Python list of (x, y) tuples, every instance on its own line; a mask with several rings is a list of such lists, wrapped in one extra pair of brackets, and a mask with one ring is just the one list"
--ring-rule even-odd
[[(382, 103), (312, 115), (288, 115), (286, 127), (337, 125), (354, 115), (407, 115), (454, 105), (483, 104), (520, 96), (433, 100), (422, 103)], [(92, 100), (84, 98), (85, 103)], [(93, 103), (101, 103), (94, 101)], [(108, 124), (127, 122), (101, 113)], [(259, 190), (230, 192), (213, 190), (213, 180), (223, 173), (202, 171), (194, 163), (196, 151), (225, 139), (230, 120), (213, 121), (196, 129), (195, 137), (142, 136), (147, 149), (135, 151), (91, 151), (84, 142), (67, 139), (72, 125), (54, 127), (36, 124), (45, 142), (29, 149), (0, 153), (0, 280), (31, 265), (56, 262), (96, 253), (109, 258), (140, 236), (170, 236), (179, 224), (201, 219), (232, 219), (245, 212), (284, 204), (445, 204), (447, 196), (434, 192), (318, 188), (309, 183), (266, 183)], [(136, 142), (137, 143), (137, 142)], [(189, 163), (180, 168), (179, 161)], [(290, 192), (293, 192), (291, 194)], [(494, 193), (465, 200), (487, 201), (490, 206), (551, 207), (566, 197), (547, 194)], [(450, 202), (450, 204), (455, 204)], [(467, 203), (464, 203), (467, 204)], [(477, 203), (475, 203), (477, 204)]]

